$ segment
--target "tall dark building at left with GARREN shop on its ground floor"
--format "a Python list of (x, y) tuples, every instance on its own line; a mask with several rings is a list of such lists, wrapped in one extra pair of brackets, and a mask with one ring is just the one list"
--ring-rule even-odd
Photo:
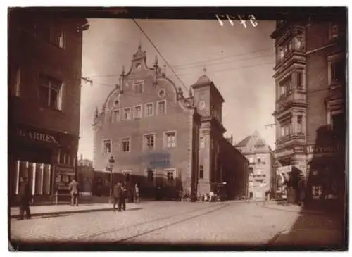
[(8, 22), (9, 199), (27, 177), (34, 201), (67, 190), (80, 131), (84, 18), (12, 8)]

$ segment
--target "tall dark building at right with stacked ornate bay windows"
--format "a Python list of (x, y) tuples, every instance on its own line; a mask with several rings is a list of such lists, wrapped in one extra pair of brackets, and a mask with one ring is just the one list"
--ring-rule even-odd
[(280, 20), (277, 52), (277, 172), (289, 201), (344, 202), (346, 194), (346, 18)]

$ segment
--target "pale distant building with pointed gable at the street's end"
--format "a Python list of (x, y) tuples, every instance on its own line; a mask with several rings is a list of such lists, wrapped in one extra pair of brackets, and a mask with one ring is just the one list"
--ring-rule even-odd
[(249, 160), (248, 196), (251, 199), (269, 199), (277, 190), (274, 158), (270, 146), (256, 131), (235, 147)]

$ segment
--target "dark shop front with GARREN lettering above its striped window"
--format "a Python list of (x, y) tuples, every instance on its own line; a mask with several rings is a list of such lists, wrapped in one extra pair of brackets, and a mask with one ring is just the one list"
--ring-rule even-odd
[[(74, 175), (77, 140), (73, 136), (23, 124), (15, 124), (9, 130), (10, 196), (18, 194), (20, 177), (27, 177), (36, 201), (39, 196), (50, 196), (56, 188), (63, 187), (57, 184), (56, 169), (61, 177), (65, 177), (66, 173)], [(69, 169), (63, 170), (61, 164)]]

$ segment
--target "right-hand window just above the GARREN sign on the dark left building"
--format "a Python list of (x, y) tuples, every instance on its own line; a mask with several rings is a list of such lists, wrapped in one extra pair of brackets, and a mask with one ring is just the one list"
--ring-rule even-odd
[(39, 77), (39, 99), (43, 106), (61, 110), (62, 84), (54, 77), (46, 75)]

